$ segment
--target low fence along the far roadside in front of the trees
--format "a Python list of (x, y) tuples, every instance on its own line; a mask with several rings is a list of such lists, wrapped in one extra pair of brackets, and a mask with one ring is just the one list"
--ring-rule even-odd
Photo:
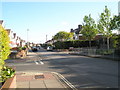
[(96, 49), (96, 48), (73, 48), (70, 50), (72, 54), (79, 54), (92, 57), (108, 58), (113, 60), (119, 60), (120, 56), (115, 53), (115, 49)]

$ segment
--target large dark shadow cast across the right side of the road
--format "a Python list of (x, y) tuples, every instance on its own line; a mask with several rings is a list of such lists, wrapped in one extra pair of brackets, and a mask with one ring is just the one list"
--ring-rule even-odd
[[(77, 88), (117, 88), (118, 62), (59, 53), (42, 53), (48, 68), (61, 73)], [(58, 58), (50, 58), (49, 57)], [(93, 90), (93, 89), (92, 89)]]

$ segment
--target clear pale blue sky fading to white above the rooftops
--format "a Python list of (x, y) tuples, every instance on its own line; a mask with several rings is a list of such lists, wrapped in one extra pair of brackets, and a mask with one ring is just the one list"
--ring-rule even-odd
[(97, 22), (105, 6), (111, 16), (118, 15), (119, 0), (2, 0), (0, 20), (23, 40), (44, 43), (59, 31), (70, 32), (83, 23), (85, 15), (91, 14)]

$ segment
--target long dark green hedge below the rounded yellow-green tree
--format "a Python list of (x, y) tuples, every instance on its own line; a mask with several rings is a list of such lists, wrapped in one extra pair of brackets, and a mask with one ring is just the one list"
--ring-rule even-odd
[[(98, 45), (98, 41), (91, 41), (91, 46), (96, 47)], [(54, 43), (55, 49), (69, 49), (69, 47), (81, 48), (81, 47), (89, 47), (89, 41), (81, 41), (81, 40), (73, 40), (73, 41), (58, 41)]]

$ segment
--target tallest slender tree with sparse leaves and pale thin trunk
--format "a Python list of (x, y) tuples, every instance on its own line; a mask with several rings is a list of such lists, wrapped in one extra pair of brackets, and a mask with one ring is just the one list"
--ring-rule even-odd
[(100, 15), (100, 19), (98, 21), (98, 28), (99, 33), (102, 33), (107, 38), (107, 49), (109, 50), (109, 39), (112, 37), (112, 31), (111, 31), (111, 20), (110, 17), (111, 13), (110, 10), (108, 10), (107, 6), (105, 6), (105, 10)]

